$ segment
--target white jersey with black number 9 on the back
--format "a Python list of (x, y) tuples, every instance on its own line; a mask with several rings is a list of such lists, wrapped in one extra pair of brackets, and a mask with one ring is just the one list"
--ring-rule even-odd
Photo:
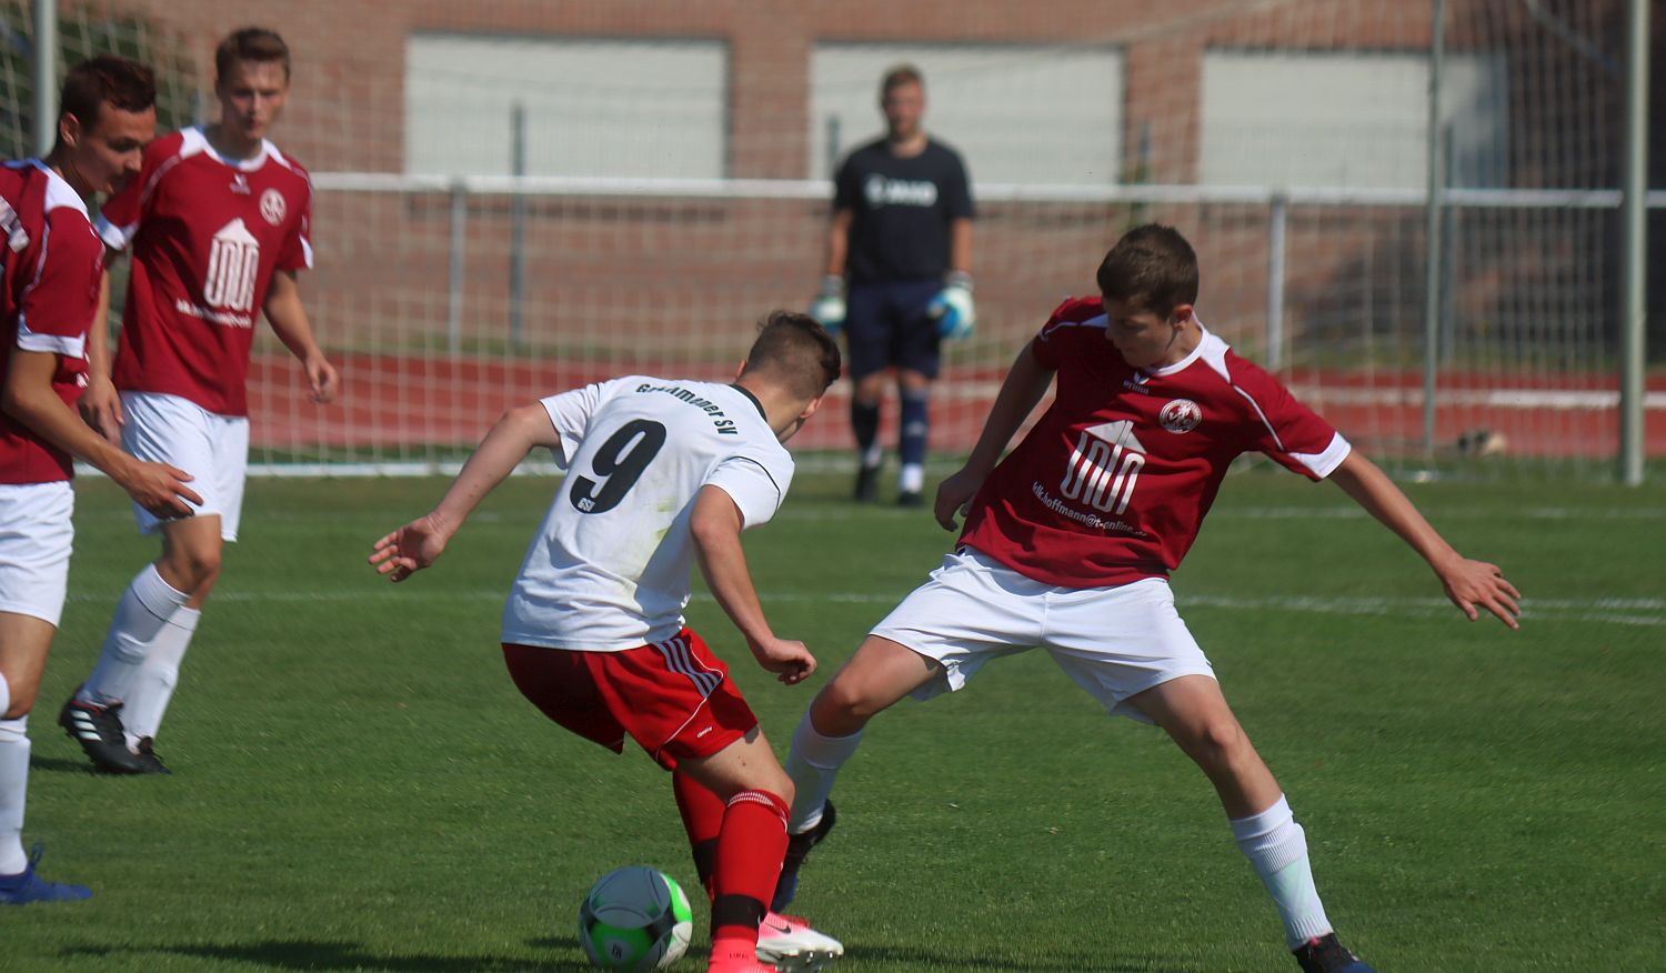
[(695, 495), (728, 493), (743, 525), (786, 496), (793, 457), (746, 392), (631, 375), (543, 400), (566, 480), (526, 550), (503, 641), (620, 651), (683, 628)]

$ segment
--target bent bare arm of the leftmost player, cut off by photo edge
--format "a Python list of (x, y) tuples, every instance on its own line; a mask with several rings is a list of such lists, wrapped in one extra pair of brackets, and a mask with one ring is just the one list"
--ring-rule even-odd
[(52, 377), (57, 372), (58, 357), (55, 353), (13, 348), (5, 373), (5, 392), (0, 395), (0, 408), (40, 438), (77, 460), (97, 467), (122, 490), (127, 490), (133, 503), (155, 516), (163, 520), (190, 516), (193, 513), (190, 503), (203, 501), (195, 490), (185, 485), (192, 477), (168, 463), (135, 460), (105, 442), (58, 398), (52, 388)]

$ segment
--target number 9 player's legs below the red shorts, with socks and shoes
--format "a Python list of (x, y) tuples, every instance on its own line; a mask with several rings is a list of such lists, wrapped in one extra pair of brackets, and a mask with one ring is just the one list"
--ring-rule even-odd
[(753, 726), (718, 753), (681, 760), (675, 773), (696, 866), (708, 871), (701, 880), (711, 896), (711, 970), (755, 970), (763, 961), (808, 971), (838, 960), (845, 953), (838, 940), (768, 908), (786, 851), (793, 781), (763, 731)]

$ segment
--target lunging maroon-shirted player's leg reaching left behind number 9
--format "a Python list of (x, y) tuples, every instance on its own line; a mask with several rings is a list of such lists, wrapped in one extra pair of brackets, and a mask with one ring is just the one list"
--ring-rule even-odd
[(798, 796), (788, 820), (791, 838), (781, 863), (781, 880), (770, 908), (781, 911), (793, 901), (798, 868), (810, 850), (833, 830), (828, 795), (840, 768), (856, 755), (863, 726), (941, 671), (936, 660), (890, 638), (870, 635), (816, 693), (798, 721), (793, 748), (786, 755), (786, 773), (793, 778)]

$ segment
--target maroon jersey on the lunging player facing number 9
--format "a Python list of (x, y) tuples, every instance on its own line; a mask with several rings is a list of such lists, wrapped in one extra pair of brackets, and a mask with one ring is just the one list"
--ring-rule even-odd
[(1348, 457), (1329, 423), (1210, 332), (1185, 362), (1146, 372), (1105, 328), (1100, 298), (1066, 300), (1035, 337), (1036, 362), (1058, 373), (1053, 407), (990, 473), (961, 543), (1048, 585), (1166, 576), (1240, 453), (1313, 480)]

